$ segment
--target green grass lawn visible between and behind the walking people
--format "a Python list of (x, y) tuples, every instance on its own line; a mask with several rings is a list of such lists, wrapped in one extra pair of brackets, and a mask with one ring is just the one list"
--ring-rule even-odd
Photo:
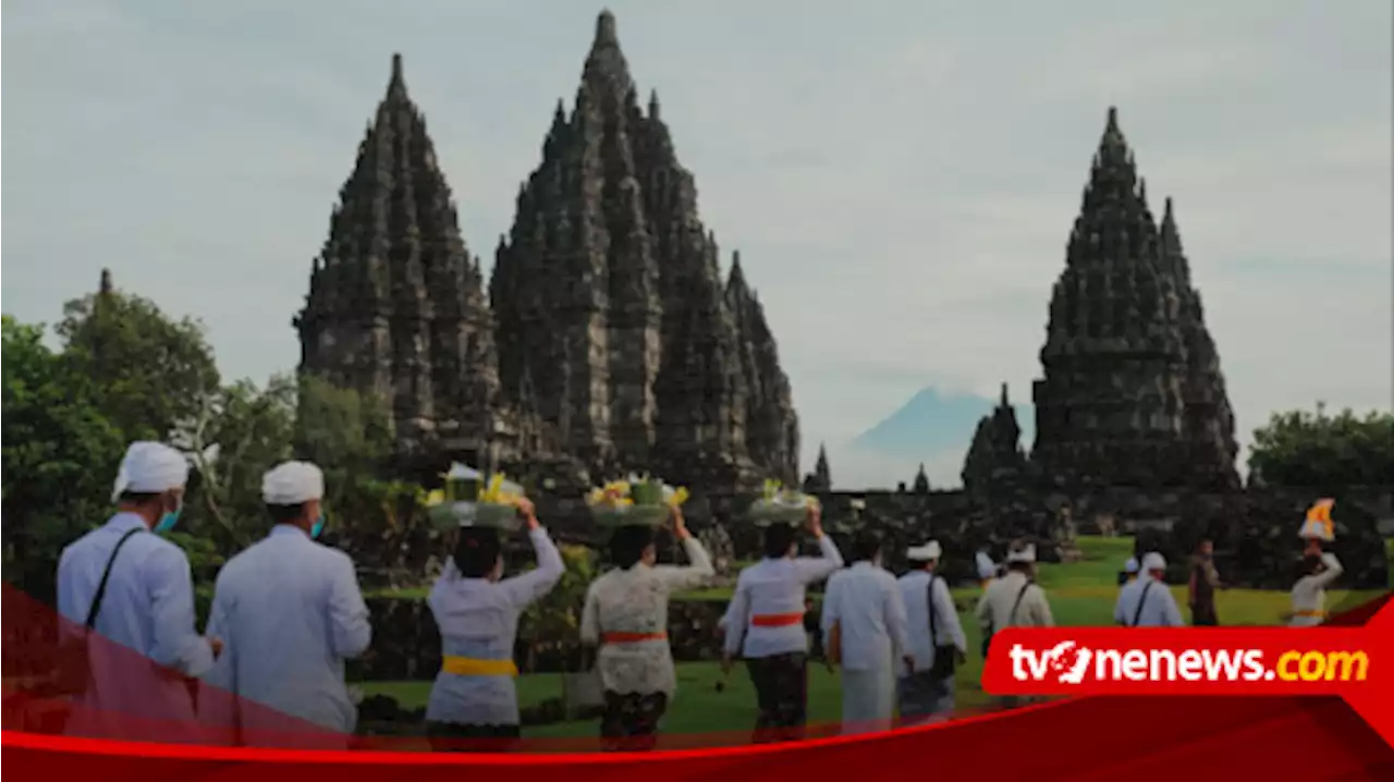
[[(1117, 573), (1132, 555), (1131, 538), (1080, 538), (1080, 562), (1069, 565), (1041, 565), (1039, 583), (1046, 588), (1057, 624), (1107, 626), (1112, 624), (1114, 601), (1118, 595)], [(979, 655), (980, 634), (973, 619), (973, 606), (980, 590), (953, 590), (959, 604), (963, 630), (969, 643), (969, 661), (956, 676), (958, 707), (987, 705), (990, 697), (979, 687), (983, 659)], [(1186, 588), (1172, 587), (1178, 602), (1185, 606)], [(1331, 591), (1328, 605), (1355, 605), (1379, 592)], [(701, 590), (675, 599), (723, 601), (729, 590)], [(1288, 609), (1288, 594), (1282, 591), (1230, 590), (1216, 597), (1216, 608), (1224, 624), (1276, 624)], [(1182, 608), (1185, 612), (1185, 608)], [(715, 691), (719, 668), (712, 662), (691, 662), (677, 666), (677, 694), (664, 719), (665, 733), (719, 733), (746, 730), (756, 714), (756, 693), (743, 668), (737, 668), (725, 691)], [(371, 682), (362, 684), (365, 694), (386, 694), (397, 698), (404, 708), (425, 705), (429, 682)], [(519, 705), (527, 707), (562, 693), (560, 676), (537, 673), (517, 680)], [(841, 691), (836, 677), (821, 665), (809, 669), (810, 722), (836, 722), (841, 714)], [(588, 737), (594, 736), (594, 722), (566, 722), (524, 729), (528, 737)]]

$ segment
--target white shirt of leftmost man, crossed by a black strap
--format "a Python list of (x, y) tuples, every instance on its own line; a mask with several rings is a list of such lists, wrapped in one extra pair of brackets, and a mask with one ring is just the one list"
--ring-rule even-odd
[[(194, 726), (194, 701), (184, 682), (162, 676), (141, 658), (184, 676), (213, 665), (213, 651), (194, 629), (194, 583), (188, 558), (174, 544), (151, 534), (134, 513), (117, 513), (82, 535), (59, 556), (59, 613), (64, 630), (86, 622), (98, 584), (117, 541), (121, 546), (88, 644), (92, 677), (67, 733), (135, 742), (198, 740), (180, 735)], [(130, 651), (127, 651), (130, 650)], [(153, 722), (152, 722), (153, 721)], [(152, 733), (152, 726), (155, 735)]]

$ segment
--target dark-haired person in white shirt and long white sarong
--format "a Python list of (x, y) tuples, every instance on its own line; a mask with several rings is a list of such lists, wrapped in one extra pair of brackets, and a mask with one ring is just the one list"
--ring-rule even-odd
[(842, 732), (891, 728), (898, 669), (913, 670), (901, 588), (881, 567), (881, 539), (861, 532), (853, 565), (828, 578), (822, 631), (842, 665)]

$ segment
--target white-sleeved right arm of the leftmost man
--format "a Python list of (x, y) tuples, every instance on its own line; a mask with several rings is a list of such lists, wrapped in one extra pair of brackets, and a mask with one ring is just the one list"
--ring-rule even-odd
[(145, 585), (155, 630), (151, 658), (184, 676), (208, 673), (213, 666), (213, 650), (194, 629), (194, 578), (188, 558), (169, 545), (151, 552), (146, 563)]

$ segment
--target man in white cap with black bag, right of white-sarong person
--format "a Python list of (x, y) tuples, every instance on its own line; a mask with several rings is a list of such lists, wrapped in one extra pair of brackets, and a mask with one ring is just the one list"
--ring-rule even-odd
[(948, 581), (935, 573), (941, 553), (938, 541), (912, 548), (906, 558), (919, 567), (899, 581), (914, 658), (914, 669), (896, 679), (902, 722), (952, 711), (953, 666), (967, 661), (967, 640), (953, 595)]

